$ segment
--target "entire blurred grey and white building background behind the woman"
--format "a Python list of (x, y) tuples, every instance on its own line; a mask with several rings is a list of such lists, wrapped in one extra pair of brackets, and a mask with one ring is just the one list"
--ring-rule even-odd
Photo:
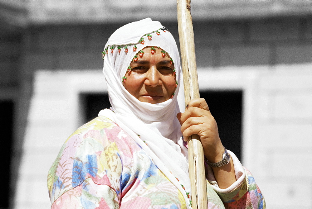
[[(193, 0), (198, 78), (267, 208), (312, 208), (312, 2)], [(101, 51), (146, 17), (178, 42), (174, 0), (0, 1), (0, 208), (42, 209), (66, 138), (109, 107)]]

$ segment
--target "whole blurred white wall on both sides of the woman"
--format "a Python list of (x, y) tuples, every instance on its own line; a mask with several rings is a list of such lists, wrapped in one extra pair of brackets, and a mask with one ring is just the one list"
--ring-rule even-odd
[[(201, 89), (242, 89), (242, 163), (268, 208), (311, 208), (312, 64), (198, 69)], [(35, 74), (15, 208), (49, 208), (47, 172), (81, 125), (81, 92), (105, 92), (101, 70)]]

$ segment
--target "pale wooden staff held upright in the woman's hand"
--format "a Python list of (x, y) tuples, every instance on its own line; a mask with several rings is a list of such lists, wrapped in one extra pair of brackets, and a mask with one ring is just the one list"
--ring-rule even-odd
[[(184, 80), (185, 104), (199, 98), (191, 0), (177, 0), (178, 29)], [(207, 209), (207, 188), (204, 150), (198, 135), (188, 140), (189, 176), (192, 188), (192, 208)]]

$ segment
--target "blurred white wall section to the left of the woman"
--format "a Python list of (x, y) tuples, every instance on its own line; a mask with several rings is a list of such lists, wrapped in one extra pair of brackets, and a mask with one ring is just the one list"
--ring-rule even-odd
[(37, 71), (17, 179), (16, 209), (50, 208), (47, 174), (64, 141), (82, 125), (79, 93), (105, 91), (101, 70)]

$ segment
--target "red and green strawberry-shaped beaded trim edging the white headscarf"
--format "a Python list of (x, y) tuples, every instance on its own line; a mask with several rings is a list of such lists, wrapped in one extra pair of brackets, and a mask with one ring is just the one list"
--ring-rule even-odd
[[(153, 31), (152, 33), (156, 33), (157, 36), (159, 36), (159, 35), (160, 35), (160, 31), (166, 32), (166, 31), (168, 31), (168, 29), (165, 28), (165, 27), (162, 27), (162, 28), (159, 28), (157, 31)], [(153, 38), (153, 35), (152, 35), (151, 33), (145, 34), (144, 36), (147, 36), (147, 38), (148, 38), (149, 40), (152, 40), (152, 38)], [(145, 43), (143, 37), (140, 38), (139, 43), (141, 43), (141, 44), (144, 44), (144, 43)], [(121, 45), (121, 46), (118, 45), (118, 46), (117, 46), (118, 54), (120, 54), (122, 48), (124, 48), (124, 53), (127, 53), (127, 52), (128, 52), (128, 46), (131, 46), (131, 45), (132, 45), (132, 44), (127, 44), (127, 45), (125, 45), (125, 46), (124, 46), (124, 45)], [(138, 47), (136, 46), (136, 44), (133, 44), (133, 45), (134, 45), (134, 46), (133, 46), (133, 51), (136, 51), (136, 50), (138, 49)], [(112, 45), (112, 46), (110, 46), (110, 53), (114, 53), (115, 46), (116, 46), (115, 44)], [(109, 47), (109, 45), (104, 49), (104, 51), (102, 51), (102, 58), (103, 58), (103, 59), (104, 59), (105, 55), (108, 54), (108, 47)], [(155, 46), (155, 47), (156, 47), (156, 46)], [(157, 46), (157, 48), (159, 48), (159, 46)], [(154, 55), (154, 53), (155, 53), (155, 51), (156, 51), (155, 48), (154, 48), (154, 46), (152, 46), (150, 49), (151, 49), (151, 53)], [(164, 56), (166, 55), (167, 52), (166, 52), (165, 50), (162, 50), (160, 53), (161, 53), (162, 56), (164, 57)], [(138, 53), (136, 53), (136, 55), (134, 55), (132, 61), (134, 61), (134, 62), (138, 61), (138, 55), (139, 55), (140, 57), (143, 57), (143, 55), (144, 55), (143, 50), (140, 50)], [(170, 64), (173, 64), (173, 59), (172, 59), (172, 58), (170, 58)], [(128, 67), (127, 70), (126, 70), (126, 73), (129, 73), (129, 72), (131, 72), (130, 65), (129, 65), (129, 67)], [(173, 75), (176, 75), (176, 69), (173, 69)], [(127, 77), (123, 76), (123, 77), (122, 77), (122, 82), (125, 82), (126, 79), (127, 79)], [(176, 81), (176, 86), (175, 86), (175, 88), (177, 88), (177, 86), (178, 86), (178, 81)], [(172, 98), (174, 95), (175, 95), (175, 93), (173, 93), (173, 95), (171, 96), (171, 98)]]

